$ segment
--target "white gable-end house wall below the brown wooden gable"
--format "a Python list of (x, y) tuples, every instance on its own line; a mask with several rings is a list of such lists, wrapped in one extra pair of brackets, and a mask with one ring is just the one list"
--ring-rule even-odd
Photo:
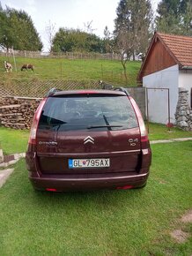
[[(175, 122), (175, 111), (178, 102), (179, 66), (173, 65), (159, 72), (144, 76), (143, 86), (147, 88), (169, 88), (170, 117)], [(149, 120), (151, 122), (168, 123), (168, 94), (167, 90), (148, 90)]]

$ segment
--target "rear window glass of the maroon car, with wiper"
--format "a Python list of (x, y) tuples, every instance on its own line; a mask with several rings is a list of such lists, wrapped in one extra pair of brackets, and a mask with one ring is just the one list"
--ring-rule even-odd
[(137, 127), (127, 96), (97, 95), (50, 97), (41, 112), (39, 129), (117, 131)]

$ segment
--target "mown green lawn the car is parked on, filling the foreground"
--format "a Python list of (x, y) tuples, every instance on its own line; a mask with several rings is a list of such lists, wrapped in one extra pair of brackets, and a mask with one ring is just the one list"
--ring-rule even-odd
[(152, 145), (151, 176), (141, 190), (34, 192), (25, 161), (0, 189), (1, 255), (185, 255), (173, 230), (192, 208), (192, 141)]

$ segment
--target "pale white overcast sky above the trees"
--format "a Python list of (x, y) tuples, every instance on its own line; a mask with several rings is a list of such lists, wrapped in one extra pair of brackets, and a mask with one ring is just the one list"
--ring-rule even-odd
[[(134, 1), (134, 0), (133, 0)], [(0, 0), (5, 5), (17, 10), (26, 11), (33, 19), (34, 26), (41, 35), (44, 50), (48, 50), (48, 35), (45, 27), (49, 20), (59, 27), (85, 29), (85, 24), (92, 21), (94, 34), (103, 37), (105, 26), (109, 31), (114, 30), (116, 8), (120, 0)], [(151, 0), (153, 10), (159, 0)]]

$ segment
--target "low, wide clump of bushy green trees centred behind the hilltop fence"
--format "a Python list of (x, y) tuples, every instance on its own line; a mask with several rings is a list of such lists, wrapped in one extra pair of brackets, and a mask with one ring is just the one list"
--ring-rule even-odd
[(95, 34), (79, 29), (60, 28), (55, 34), (52, 50), (55, 52), (101, 52), (102, 41)]

